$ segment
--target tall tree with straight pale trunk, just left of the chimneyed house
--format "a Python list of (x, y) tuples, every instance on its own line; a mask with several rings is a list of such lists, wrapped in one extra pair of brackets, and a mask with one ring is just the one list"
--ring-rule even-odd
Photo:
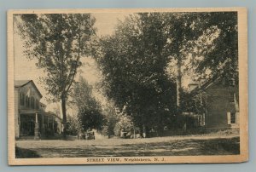
[[(177, 114), (181, 113), (182, 93), (182, 66), (188, 59), (191, 49), (194, 48), (194, 40), (201, 36), (202, 13), (164, 13), (164, 35), (167, 37), (164, 54), (171, 56), (170, 60), (176, 68), (177, 85)], [(195, 29), (196, 28), (196, 29)], [(173, 66), (172, 66), (173, 67)]]

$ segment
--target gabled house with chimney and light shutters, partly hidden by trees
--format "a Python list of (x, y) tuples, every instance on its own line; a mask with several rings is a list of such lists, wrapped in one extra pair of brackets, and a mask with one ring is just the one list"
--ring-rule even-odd
[(207, 82), (189, 84), (189, 90), (189, 99), (200, 106), (201, 112), (197, 115), (201, 126), (239, 128), (239, 92), (234, 79), (226, 81), (223, 77), (212, 77)]

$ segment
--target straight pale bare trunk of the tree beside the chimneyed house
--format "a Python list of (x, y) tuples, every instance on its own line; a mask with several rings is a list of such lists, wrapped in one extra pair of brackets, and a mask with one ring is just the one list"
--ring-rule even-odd
[(181, 59), (178, 57), (177, 58), (177, 79), (176, 79), (176, 84), (177, 84), (177, 114), (178, 115), (181, 113), (181, 109), (180, 109), (181, 78), (182, 78), (181, 62), (182, 62)]

